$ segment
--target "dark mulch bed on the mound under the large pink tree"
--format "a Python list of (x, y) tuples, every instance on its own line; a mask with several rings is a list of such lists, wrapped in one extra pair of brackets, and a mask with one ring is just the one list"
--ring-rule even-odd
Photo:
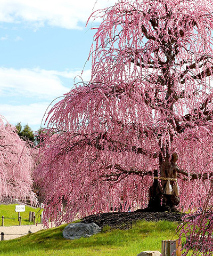
[(132, 223), (137, 220), (146, 221), (181, 221), (184, 213), (180, 212), (143, 212), (137, 210), (135, 212), (110, 212), (85, 217), (81, 222), (95, 222), (100, 228), (108, 225), (111, 228), (129, 229)]

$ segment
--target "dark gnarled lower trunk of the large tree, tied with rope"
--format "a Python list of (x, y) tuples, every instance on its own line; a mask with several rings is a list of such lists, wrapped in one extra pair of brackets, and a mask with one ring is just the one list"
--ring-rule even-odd
[[(177, 154), (173, 153), (171, 160), (169, 161), (169, 156), (162, 157), (159, 155), (159, 167), (160, 176), (165, 178), (177, 178), (176, 169)], [(154, 177), (158, 177), (158, 173), (154, 171)], [(171, 187), (174, 187), (175, 181), (170, 181)], [(174, 194), (171, 195), (164, 194), (164, 190), (167, 184), (167, 180), (158, 179), (153, 181), (152, 186), (149, 189), (149, 211), (177, 211), (176, 206), (179, 204), (179, 197)]]

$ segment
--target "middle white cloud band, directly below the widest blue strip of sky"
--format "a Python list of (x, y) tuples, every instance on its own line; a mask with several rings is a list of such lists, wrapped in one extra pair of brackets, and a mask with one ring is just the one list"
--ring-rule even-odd
[[(51, 100), (68, 92), (73, 78), (80, 75), (79, 70), (45, 70), (0, 68), (0, 93), (4, 97), (22, 96)], [(86, 70), (83, 77), (89, 80), (91, 71)], [(69, 87), (63, 85), (63, 78), (70, 78)]]

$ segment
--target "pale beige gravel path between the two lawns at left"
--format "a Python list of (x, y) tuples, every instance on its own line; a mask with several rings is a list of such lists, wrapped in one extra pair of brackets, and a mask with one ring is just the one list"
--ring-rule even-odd
[[(49, 227), (51, 226), (51, 223), (49, 224)], [(30, 230), (32, 233), (35, 233), (39, 230), (44, 229), (44, 226), (39, 223), (37, 225), (23, 225), (23, 226), (10, 226), (10, 227), (0, 227), (0, 233), (4, 232), (4, 240), (10, 240), (14, 238), (18, 238), (24, 235), (28, 234), (28, 231)]]

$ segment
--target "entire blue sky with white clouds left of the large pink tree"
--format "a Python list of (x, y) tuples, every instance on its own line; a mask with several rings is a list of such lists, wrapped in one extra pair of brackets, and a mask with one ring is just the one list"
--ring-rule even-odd
[[(0, 114), (38, 130), (46, 108), (81, 74), (99, 21), (94, 10), (114, 0), (0, 1)], [(94, 7), (95, 5), (95, 7)], [(89, 80), (91, 63), (83, 73)], [(44, 125), (43, 125), (44, 126)]]

